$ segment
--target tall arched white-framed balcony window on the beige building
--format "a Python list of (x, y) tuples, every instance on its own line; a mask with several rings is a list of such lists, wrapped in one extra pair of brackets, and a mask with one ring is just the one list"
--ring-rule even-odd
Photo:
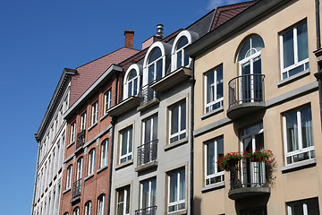
[(262, 101), (261, 49), (264, 41), (257, 34), (250, 35), (239, 49), (237, 61), (242, 76), (241, 99), (243, 102)]

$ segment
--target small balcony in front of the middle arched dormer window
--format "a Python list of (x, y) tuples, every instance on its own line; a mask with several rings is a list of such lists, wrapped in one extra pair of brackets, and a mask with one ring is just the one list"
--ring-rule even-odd
[(155, 90), (152, 90), (149, 84), (143, 86), (140, 89), (139, 97), (140, 97), (140, 107), (137, 108), (139, 111), (144, 110), (159, 102), (158, 93)]

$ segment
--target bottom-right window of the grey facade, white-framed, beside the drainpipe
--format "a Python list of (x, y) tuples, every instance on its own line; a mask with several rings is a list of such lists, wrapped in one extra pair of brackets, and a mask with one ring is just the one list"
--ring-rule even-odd
[(185, 169), (180, 168), (167, 174), (168, 204), (167, 211), (174, 212), (185, 209)]

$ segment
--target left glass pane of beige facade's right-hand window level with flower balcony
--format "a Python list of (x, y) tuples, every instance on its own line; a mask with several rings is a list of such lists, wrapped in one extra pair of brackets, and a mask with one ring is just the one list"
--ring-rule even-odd
[(299, 150), (296, 112), (286, 116), (287, 152)]

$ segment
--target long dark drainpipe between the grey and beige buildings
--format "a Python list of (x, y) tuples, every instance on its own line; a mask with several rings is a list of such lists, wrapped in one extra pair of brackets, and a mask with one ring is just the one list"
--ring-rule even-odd
[(193, 204), (193, 195), (194, 195), (194, 138), (193, 138), (193, 130), (194, 130), (194, 84), (196, 82), (194, 78), (194, 59), (192, 58), (191, 60), (191, 79), (189, 80), (191, 83), (191, 136), (190, 136), (190, 141), (191, 141), (191, 169), (190, 169), (190, 174), (191, 174), (191, 187), (190, 187), (190, 202), (191, 202), (191, 215), (194, 214), (194, 204)]

